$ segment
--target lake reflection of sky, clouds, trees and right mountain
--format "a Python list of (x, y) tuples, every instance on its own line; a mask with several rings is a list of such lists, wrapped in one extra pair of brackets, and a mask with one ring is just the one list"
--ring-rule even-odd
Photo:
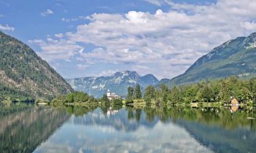
[(255, 120), (246, 119), (255, 117), (252, 110), (101, 107), (84, 113), (72, 115), (35, 152), (256, 152)]

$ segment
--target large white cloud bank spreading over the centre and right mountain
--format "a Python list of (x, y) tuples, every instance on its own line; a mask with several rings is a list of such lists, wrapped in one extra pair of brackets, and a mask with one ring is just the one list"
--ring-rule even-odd
[[(81, 44), (94, 44), (96, 48), (79, 55), (94, 63), (112, 64), (116, 68), (131, 65), (139, 73), (172, 78), (212, 48), (256, 31), (256, 1), (219, 0), (207, 5), (167, 0), (159, 3), (169, 5), (171, 11), (92, 14), (87, 17), (89, 23), (78, 25), (76, 32), (65, 34), (65, 39), (41, 45), (42, 54), (49, 53), (46, 46), (54, 47), (55, 54), (58, 50), (61, 54), (66, 46), (73, 56), (82, 48)], [(70, 42), (72, 48), (67, 46)]]

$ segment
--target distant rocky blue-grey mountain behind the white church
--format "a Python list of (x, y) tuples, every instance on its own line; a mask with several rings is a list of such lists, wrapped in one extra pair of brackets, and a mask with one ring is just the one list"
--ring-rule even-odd
[(119, 71), (111, 76), (72, 78), (67, 79), (67, 82), (74, 90), (87, 92), (89, 95), (100, 98), (108, 89), (125, 97), (129, 86), (140, 84), (145, 88), (156, 84), (158, 80), (152, 74), (141, 77), (136, 71)]

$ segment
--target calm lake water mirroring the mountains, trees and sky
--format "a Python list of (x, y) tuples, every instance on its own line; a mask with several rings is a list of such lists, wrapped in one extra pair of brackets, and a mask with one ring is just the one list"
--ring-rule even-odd
[(253, 110), (0, 108), (0, 152), (256, 152)]

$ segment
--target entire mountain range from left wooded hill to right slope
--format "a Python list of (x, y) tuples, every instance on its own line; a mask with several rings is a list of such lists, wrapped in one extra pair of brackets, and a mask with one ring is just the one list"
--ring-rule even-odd
[(236, 75), (238, 78), (256, 76), (256, 33), (231, 39), (199, 58), (185, 73), (169, 80), (154, 75), (140, 76), (136, 71), (119, 71), (110, 76), (72, 78), (64, 80), (29, 46), (0, 31), (0, 99), (14, 97), (55, 97), (80, 90), (102, 97), (111, 90), (122, 97), (128, 86), (166, 84), (169, 87), (193, 84)]

